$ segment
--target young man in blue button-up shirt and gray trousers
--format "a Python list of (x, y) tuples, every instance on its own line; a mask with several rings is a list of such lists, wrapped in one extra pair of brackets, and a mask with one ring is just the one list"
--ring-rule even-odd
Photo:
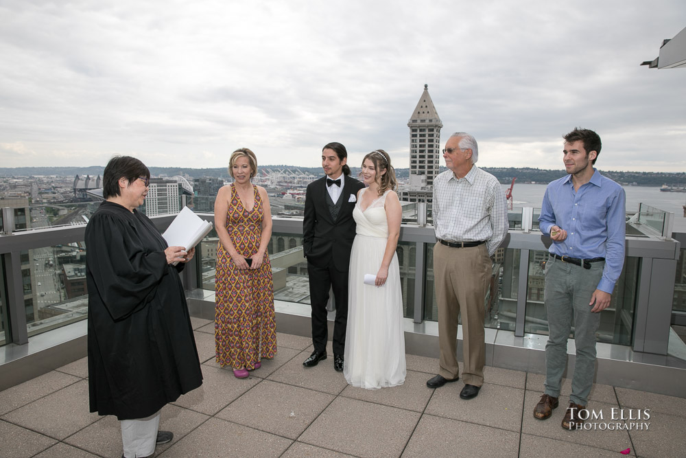
[(558, 407), (573, 323), (576, 365), (562, 426), (576, 429), (587, 418), (579, 411), (586, 408), (593, 387), (600, 312), (610, 305), (624, 265), (626, 198), (620, 185), (593, 168), (601, 147), (597, 133), (575, 128), (563, 138), (567, 176), (549, 183), (539, 217), (552, 244), (543, 295), (549, 325), (545, 392), (534, 417), (545, 420)]

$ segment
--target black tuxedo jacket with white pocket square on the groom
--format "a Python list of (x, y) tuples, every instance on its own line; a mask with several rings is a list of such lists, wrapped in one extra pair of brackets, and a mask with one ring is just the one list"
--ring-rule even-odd
[(343, 190), (338, 197), (341, 207), (334, 221), (327, 204), (327, 177), (323, 176), (307, 185), (303, 218), (303, 253), (307, 262), (320, 268), (333, 262), (336, 270), (348, 270), (355, 239), (353, 209), (356, 201), (351, 202), (350, 196), (357, 196), (363, 187), (363, 183), (350, 176), (344, 178)]

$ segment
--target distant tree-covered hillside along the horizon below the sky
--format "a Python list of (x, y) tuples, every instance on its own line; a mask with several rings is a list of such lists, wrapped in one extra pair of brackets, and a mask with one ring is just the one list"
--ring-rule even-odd
[[(301, 170), (302, 172), (309, 172), (315, 176), (322, 174), (320, 167), (293, 167), (292, 165), (262, 165), (260, 170)], [(56, 175), (56, 176), (76, 176), (78, 175), (102, 175), (104, 167), (16, 167), (16, 168), (0, 168), (0, 176), (36, 176), (36, 175)], [(352, 168), (353, 176), (357, 175), (359, 168)], [(446, 170), (441, 168), (440, 171)], [(537, 168), (492, 168), (484, 167), (484, 170), (492, 173), (501, 183), (510, 183), (512, 178), (517, 177), (518, 183), (549, 183), (555, 179), (560, 178), (565, 174), (564, 170), (543, 170)], [(621, 183), (623, 185), (639, 185), (639, 186), (661, 186), (663, 184), (669, 185), (686, 185), (685, 172), (614, 172), (611, 170), (601, 170), (602, 174)], [(186, 174), (191, 178), (200, 178), (207, 176), (211, 178), (228, 179), (228, 172), (226, 168), (176, 168), (176, 167), (151, 167), (150, 173), (153, 176), (174, 176)], [(407, 179), (410, 174), (410, 169), (396, 169), (396, 174), (399, 179)]]

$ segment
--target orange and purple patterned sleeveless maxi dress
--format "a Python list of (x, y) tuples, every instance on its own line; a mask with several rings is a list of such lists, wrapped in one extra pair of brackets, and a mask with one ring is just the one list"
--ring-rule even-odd
[[(262, 237), (264, 209), (257, 186), (252, 185), (255, 205), (243, 207), (236, 188), (226, 215), (226, 230), (236, 251), (255, 255)], [(217, 246), (215, 275), (215, 345), (217, 363), (224, 367), (255, 369), (261, 358), (276, 355), (274, 286), (269, 255), (255, 270), (240, 270), (233, 264), (222, 242)]]

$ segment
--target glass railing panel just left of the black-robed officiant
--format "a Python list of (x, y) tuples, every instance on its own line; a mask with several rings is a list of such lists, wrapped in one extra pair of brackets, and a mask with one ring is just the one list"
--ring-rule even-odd
[(21, 257), (27, 333), (40, 334), (86, 319), (86, 250), (83, 242), (41, 247)]

